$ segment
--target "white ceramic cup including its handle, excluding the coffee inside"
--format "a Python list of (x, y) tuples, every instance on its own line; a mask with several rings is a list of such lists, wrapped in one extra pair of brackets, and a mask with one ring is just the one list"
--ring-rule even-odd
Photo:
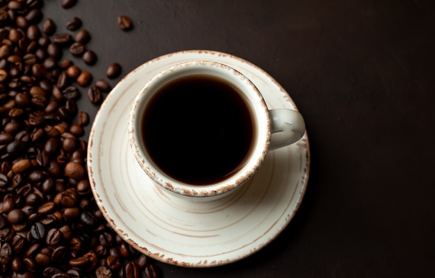
[[(143, 146), (142, 115), (147, 103), (158, 90), (168, 82), (190, 75), (209, 75), (222, 78), (236, 87), (250, 103), (255, 119), (256, 136), (254, 147), (249, 153), (247, 163), (225, 180), (214, 184), (192, 185), (179, 182), (156, 166)], [(206, 105), (206, 104), (200, 104)], [(165, 123), (162, 123), (165, 124)], [(212, 127), (211, 127), (212, 128)], [(256, 86), (242, 73), (227, 65), (211, 61), (192, 61), (175, 64), (151, 78), (136, 96), (129, 116), (129, 140), (138, 164), (154, 180), (157, 186), (187, 198), (211, 200), (222, 198), (245, 184), (261, 166), (269, 150), (281, 148), (298, 141), (305, 132), (302, 115), (290, 109), (268, 110)], [(274, 137), (271, 135), (274, 134)], [(176, 140), (177, 138), (174, 138)]]

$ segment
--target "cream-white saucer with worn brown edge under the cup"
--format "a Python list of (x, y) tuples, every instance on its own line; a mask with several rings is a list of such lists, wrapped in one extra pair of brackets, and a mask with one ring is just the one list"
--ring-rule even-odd
[(149, 257), (188, 267), (220, 266), (270, 243), (302, 202), (309, 175), (309, 141), (270, 151), (256, 175), (228, 198), (187, 201), (158, 189), (136, 163), (127, 122), (145, 82), (172, 64), (211, 60), (244, 73), (269, 109), (297, 109), (268, 73), (215, 51), (182, 51), (138, 67), (114, 89), (95, 117), (88, 145), (88, 173), (97, 204), (124, 240)]

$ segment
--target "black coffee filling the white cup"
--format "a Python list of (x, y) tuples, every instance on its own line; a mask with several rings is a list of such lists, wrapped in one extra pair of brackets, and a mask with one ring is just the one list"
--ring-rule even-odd
[(142, 137), (161, 171), (180, 182), (205, 185), (245, 165), (255, 132), (252, 119), (247, 101), (228, 82), (187, 76), (151, 98)]

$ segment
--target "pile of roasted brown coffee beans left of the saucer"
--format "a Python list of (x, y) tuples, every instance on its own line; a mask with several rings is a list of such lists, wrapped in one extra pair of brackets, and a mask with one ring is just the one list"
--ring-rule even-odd
[[(94, 64), (90, 34), (78, 17), (67, 22), (74, 35), (56, 33), (42, 6), (0, 0), (0, 277), (159, 277), (108, 225), (90, 189), (81, 139), (90, 119), (76, 101), (90, 86), (89, 100), (99, 103), (110, 85), (62, 60), (69, 51)], [(120, 24), (131, 28), (125, 17)], [(120, 71), (110, 64), (107, 77)]]

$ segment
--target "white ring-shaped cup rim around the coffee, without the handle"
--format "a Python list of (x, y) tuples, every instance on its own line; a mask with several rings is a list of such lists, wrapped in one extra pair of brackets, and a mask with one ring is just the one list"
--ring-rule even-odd
[[(251, 151), (248, 162), (245, 164), (245, 166), (240, 168), (239, 171), (227, 179), (221, 180), (215, 184), (190, 185), (179, 182), (178, 180), (174, 180), (172, 177), (168, 177), (151, 162), (151, 159), (148, 159), (145, 148), (139, 144), (141, 141), (141, 132), (135, 132), (135, 130), (138, 130), (139, 128), (141, 115), (145, 109), (147, 99), (151, 98), (154, 92), (156, 92), (156, 90), (160, 87), (159, 85), (165, 84), (165, 78), (177, 79), (179, 77), (174, 77), (177, 76), (177, 74), (182, 74), (183, 76), (195, 74), (192, 73), (194, 69), (200, 71), (206, 69), (210, 70), (210, 72), (219, 71), (231, 76), (233, 78), (232, 80), (238, 80), (238, 87), (245, 88), (240, 91), (243, 92), (245, 96), (249, 97), (249, 102), (251, 103), (252, 110), (254, 110), (253, 114), (256, 118), (255, 146)], [(233, 85), (235, 83), (233, 81), (230, 82)], [(268, 153), (268, 148), (270, 146), (270, 118), (268, 107), (257, 87), (251, 80), (249, 80), (249, 78), (243, 75), (243, 73), (240, 73), (240, 71), (237, 71), (226, 64), (221, 64), (220, 62), (206, 60), (195, 60), (174, 64), (148, 80), (148, 82), (142, 87), (136, 96), (135, 100), (133, 101), (133, 105), (131, 105), (128, 132), (133, 155), (142, 170), (147, 173), (151, 180), (154, 180), (158, 186), (166, 189), (169, 192), (176, 193), (179, 196), (186, 196), (195, 199), (198, 197), (220, 198), (222, 196), (226, 196), (227, 193), (233, 192), (233, 189), (240, 187), (242, 184), (247, 182), (247, 180), (249, 180), (254, 173), (256, 173), (258, 168), (263, 163), (265, 155)]]

